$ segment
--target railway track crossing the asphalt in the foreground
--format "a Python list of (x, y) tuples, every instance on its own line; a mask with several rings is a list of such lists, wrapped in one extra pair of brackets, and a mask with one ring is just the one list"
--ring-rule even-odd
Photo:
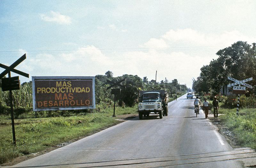
[[(162, 157), (150, 157), (150, 158), (138, 158), (138, 159), (127, 159), (127, 160), (110, 160), (103, 162), (89, 162), (89, 163), (77, 163), (77, 164), (58, 164), (58, 165), (42, 165), (38, 167), (197, 167), (199, 164), (209, 166), (215, 162), (224, 161), (236, 161), (248, 158), (256, 158), (256, 152), (251, 148), (238, 148), (229, 151), (218, 151), (218, 152), (207, 152), (207, 153), (196, 153), (187, 155), (176, 155), (176, 156), (162, 156)], [(208, 165), (209, 164), (209, 165)], [(234, 165), (228, 163), (232, 167)], [(34, 168), (36, 166), (25, 166), (26, 168)], [(20, 167), (20, 168), (25, 168)], [(200, 166), (201, 167), (201, 166)], [(235, 166), (236, 167), (236, 166)], [(240, 166), (237, 166), (240, 167)]]

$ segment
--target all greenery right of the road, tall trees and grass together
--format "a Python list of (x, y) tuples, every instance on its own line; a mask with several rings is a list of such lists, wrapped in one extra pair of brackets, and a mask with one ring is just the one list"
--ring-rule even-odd
[[(193, 90), (212, 103), (216, 96), (220, 102), (219, 120), (233, 132), (237, 145), (256, 148), (256, 44), (238, 41), (230, 47), (219, 50), (209, 65), (201, 68), (200, 76), (193, 79)], [(243, 67), (243, 68), (241, 68)], [(240, 97), (239, 115), (236, 115), (237, 95), (227, 95), (231, 81), (228, 76), (238, 80), (253, 77), (246, 93)], [(212, 109), (212, 104), (210, 104)]]

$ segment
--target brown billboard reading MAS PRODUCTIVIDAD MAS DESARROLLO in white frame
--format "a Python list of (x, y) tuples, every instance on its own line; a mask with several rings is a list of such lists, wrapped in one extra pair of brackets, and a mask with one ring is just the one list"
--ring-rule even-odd
[(33, 111), (95, 108), (94, 76), (32, 76)]

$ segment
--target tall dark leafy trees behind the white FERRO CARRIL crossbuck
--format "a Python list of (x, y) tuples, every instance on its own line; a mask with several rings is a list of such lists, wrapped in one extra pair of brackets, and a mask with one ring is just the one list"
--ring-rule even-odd
[(238, 41), (229, 47), (219, 50), (217, 59), (203, 66), (200, 76), (193, 79), (192, 89), (196, 92), (227, 94), (227, 85), (232, 83), (228, 76), (237, 80), (253, 77), (250, 81), (253, 89), (247, 88), (247, 94), (255, 94), (256, 85), (256, 47), (247, 42)]

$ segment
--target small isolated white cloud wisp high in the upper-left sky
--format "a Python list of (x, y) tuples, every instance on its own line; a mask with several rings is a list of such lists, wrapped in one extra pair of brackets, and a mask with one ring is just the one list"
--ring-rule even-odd
[(66, 15), (61, 15), (59, 12), (51, 11), (51, 16), (40, 14), (41, 19), (48, 22), (56, 22), (59, 24), (71, 24), (71, 18)]

